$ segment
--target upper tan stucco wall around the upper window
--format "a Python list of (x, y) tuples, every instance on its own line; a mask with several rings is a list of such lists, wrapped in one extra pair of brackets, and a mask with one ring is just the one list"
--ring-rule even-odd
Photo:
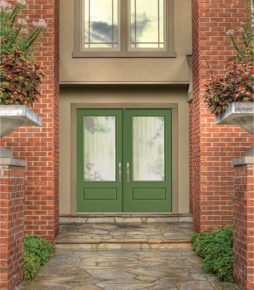
[(74, 0), (60, 1), (60, 82), (189, 81), (191, 0), (174, 1), (175, 58), (72, 58)]

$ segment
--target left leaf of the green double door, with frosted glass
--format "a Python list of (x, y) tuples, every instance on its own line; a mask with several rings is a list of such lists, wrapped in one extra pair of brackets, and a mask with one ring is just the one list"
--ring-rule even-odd
[(78, 213), (123, 211), (122, 122), (119, 109), (77, 110)]

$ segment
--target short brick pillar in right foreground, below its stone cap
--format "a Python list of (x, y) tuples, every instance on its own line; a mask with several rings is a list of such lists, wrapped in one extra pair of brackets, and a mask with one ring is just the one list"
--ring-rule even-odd
[(253, 289), (253, 164), (234, 167), (234, 281)]

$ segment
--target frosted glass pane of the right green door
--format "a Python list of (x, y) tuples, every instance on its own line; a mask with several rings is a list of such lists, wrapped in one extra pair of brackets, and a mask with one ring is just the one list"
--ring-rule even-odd
[(164, 117), (133, 117), (133, 180), (165, 180)]

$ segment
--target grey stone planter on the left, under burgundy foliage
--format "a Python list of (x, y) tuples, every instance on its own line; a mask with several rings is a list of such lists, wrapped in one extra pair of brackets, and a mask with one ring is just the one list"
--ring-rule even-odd
[(20, 126), (41, 126), (41, 116), (25, 105), (1, 105), (1, 138)]

